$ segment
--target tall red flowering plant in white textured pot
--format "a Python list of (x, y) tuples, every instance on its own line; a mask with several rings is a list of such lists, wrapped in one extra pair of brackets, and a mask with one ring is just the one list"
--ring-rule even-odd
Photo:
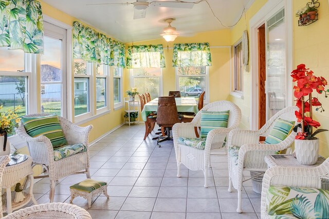
[(326, 79), (315, 76), (313, 71), (305, 68), (304, 64), (298, 65), (297, 69), (291, 72), (291, 77), (293, 77), (293, 82), (297, 82), (297, 86), (294, 86), (294, 96), (297, 98), (296, 106), (299, 111), (296, 111), (295, 114), (300, 122), (295, 126), (294, 131), (297, 132), (298, 128), (301, 129), (295, 139), (296, 157), (301, 164), (313, 165), (319, 156), (319, 139), (315, 135), (328, 130), (317, 129), (313, 132), (313, 127), (318, 128), (320, 123), (313, 120), (312, 107), (316, 107), (316, 111), (320, 112), (323, 112), (324, 109), (319, 99), (312, 96), (312, 92), (316, 90), (319, 94), (325, 93), (325, 97), (327, 97), (329, 89), (324, 90), (327, 85)]

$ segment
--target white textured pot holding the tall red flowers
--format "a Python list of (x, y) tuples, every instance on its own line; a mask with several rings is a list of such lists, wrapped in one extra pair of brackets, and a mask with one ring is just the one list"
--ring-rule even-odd
[(304, 165), (317, 163), (319, 157), (319, 139), (295, 140), (295, 152), (297, 161)]

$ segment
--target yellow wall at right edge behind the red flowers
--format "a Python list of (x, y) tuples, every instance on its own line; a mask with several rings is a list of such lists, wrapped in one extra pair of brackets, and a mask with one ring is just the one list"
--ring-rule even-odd
[[(307, 0), (294, 0), (293, 12), (305, 7)], [(308, 26), (299, 27), (294, 17), (294, 66), (304, 63), (316, 76), (323, 76), (329, 81), (329, 6), (327, 0), (319, 0), (319, 19)], [(295, 14), (295, 13), (294, 13)], [(327, 85), (326, 89), (329, 89)], [(329, 98), (313, 92), (319, 98), (325, 112), (314, 110), (313, 119), (319, 121), (322, 129), (329, 129)], [(317, 135), (320, 139), (320, 154), (329, 157), (329, 132)]]

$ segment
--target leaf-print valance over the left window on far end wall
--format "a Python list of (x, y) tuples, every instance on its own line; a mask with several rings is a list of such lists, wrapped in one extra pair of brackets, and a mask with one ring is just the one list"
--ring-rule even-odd
[(127, 68), (165, 68), (163, 46), (133, 45), (128, 47)]

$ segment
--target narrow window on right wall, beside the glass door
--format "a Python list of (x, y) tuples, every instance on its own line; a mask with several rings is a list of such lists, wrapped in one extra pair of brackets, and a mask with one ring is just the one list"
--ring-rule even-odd
[(234, 91), (242, 91), (242, 42), (234, 46)]

